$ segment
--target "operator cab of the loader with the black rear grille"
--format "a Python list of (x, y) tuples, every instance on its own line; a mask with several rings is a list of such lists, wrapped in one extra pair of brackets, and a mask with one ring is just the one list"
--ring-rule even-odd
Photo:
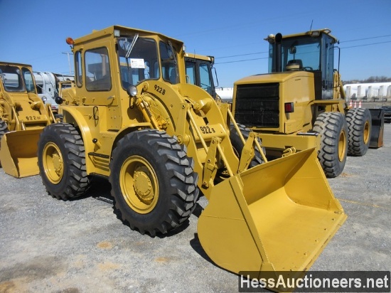
[(269, 35), (269, 73), (309, 71), (314, 73), (317, 100), (333, 98), (334, 44), (328, 28), (289, 36)]

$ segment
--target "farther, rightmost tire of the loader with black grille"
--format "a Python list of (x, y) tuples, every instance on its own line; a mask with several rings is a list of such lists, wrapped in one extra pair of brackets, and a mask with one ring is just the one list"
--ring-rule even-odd
[(346, 122), (348, 122), (349, 132), (348, 154), (365, 155), (370, 144), (372, 129), (370, 111), (364, 108), (350, 109), (346, 114)]

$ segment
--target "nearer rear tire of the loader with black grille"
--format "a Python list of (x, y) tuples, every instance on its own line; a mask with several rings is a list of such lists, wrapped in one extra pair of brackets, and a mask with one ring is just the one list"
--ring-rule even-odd
[(323, 112), (316, 117), (315, 132), (321, 135), (318, 159), (328, 178), (339, 176), (346, 164), (348, 154), (348, 125), (339, 112)]

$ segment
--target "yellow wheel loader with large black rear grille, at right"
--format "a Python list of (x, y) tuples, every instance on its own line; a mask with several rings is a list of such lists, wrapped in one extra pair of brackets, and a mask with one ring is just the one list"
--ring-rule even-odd
[(269, 73), (235, 82), (235, 119), (259, 132), (268, 159), (316, 147), (326, 176), (340, 175), (347, 154), (368, 150), (372, 120), (368, 109), (346, 104), (333, 69), (338, 40), (327, 28), (265, 40)]

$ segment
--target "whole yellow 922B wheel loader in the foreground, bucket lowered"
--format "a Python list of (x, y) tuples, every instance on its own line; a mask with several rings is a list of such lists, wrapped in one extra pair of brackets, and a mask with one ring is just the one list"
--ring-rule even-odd
[(68, 43), (75, 87), (59, 101), (63, 122), (45, 127), (38, 143), (51, 196), (81, 196), (92, 176), (105, 176), (122, 220), (154, 236), (186, 221), (200, 192), (208, 206), (198, 238), (217, 265), (310, 267), (346, 219), (314, 149), (249, 169), (262, 151), (257, 135), (241, 137), (235, 151), (228, 105), (186, 83), (181, 41), (112, 26)]

